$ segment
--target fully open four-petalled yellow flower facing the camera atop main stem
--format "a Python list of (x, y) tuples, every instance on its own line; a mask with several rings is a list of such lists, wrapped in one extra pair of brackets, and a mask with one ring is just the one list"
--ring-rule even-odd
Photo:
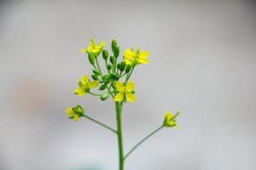
[(134, 86), (134, 82), (128, 82), (126, 86), (123, 82), (116, 82), (115, 88), (118, 94), (114, 96), (114, 101), (118, 102), (126, 99), (127, 101), (135, 102), (136, 98), (134, 94), (132, 94)]

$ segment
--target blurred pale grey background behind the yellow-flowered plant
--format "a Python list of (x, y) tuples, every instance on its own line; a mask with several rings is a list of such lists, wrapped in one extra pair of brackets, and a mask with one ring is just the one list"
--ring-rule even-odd
[[(253, 1), (1, 1), (0, 169), (115, 170), (117, 139), (67, 106), (115, 127), (113, 103), (73, 95), (90, 73), (89, 37), (151, 52), (125, 105), (125, 151), (182, 111), (125, 162), (127, 170), (256, 169)], [(109, 48), (109, 43), (108, 46)]]

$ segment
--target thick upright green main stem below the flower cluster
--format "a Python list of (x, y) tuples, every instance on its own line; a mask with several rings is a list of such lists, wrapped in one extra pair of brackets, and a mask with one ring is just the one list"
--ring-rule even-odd
[(122, 107), (123, 105), (119, 105), (119, 103), (115, 103), (115, 111), (116, 111), (116, 122), (117, 122), (117, 135), (119, 142), (119, 170), (124, 170), (124, 148), (123, 148), (123, 134), (122, 134)]

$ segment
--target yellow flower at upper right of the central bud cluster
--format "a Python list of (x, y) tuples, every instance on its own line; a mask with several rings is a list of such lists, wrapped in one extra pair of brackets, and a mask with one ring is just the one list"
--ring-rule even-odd
[(137, 49), (137, 52), (133, 51), (133, 49), (128, 48), (125, 49), (124, 59), (126, 65), (137, 65), (137, 64), (148, 64), (148, 51), (140, 51)]

